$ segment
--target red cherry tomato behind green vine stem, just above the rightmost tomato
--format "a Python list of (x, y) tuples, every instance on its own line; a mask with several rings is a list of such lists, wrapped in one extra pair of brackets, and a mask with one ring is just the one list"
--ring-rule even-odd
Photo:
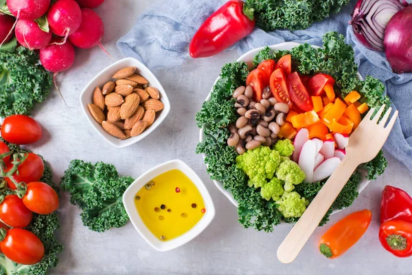
[[(13, 164), (8, 164), (7, 170), (9, 171), (12, 167)], [(27, 159), (20, 164), (17, 169), (19, 170), (19, 175), (14, 173), (12, 177), (17, 182), (24, 181), (27, 183), (41, 179), (45, 170), (45, 164), (43, 163), (43, 159), (41, 159), (38, 155), (28, 153)], [(14, 186), (13, 182), (8, 177), (5, 178), (5, 181), (7, 181), (8, 188), (16, 190), (16, 186)]]

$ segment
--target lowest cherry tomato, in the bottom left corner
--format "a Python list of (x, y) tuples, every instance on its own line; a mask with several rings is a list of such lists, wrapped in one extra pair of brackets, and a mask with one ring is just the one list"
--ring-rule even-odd
[(34, 265), (45, 256), (45, 247), (38, 236), (21, 228), (8, 230), (0, 248), (8, 259), (21, 265)]

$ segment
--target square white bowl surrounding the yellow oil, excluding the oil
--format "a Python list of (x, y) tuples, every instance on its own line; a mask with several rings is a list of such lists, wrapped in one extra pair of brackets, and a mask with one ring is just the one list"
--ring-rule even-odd
[[(202, 219), (194, 225), (192, 229), (187, 231), (185, 234), (178, 236), (170, 241), (160, 241), (157, 239), (157, 236), (153, 235), (150, 230), (146, 227), (144, 222), (141, 220), (139, 213), (135, 207), (135, 195), (136, 193), (145, 186), (150, 180), (157, 177), (158, 175), (165, 173), (169, 170), (178, 169), (181, 170), (191, 181), (193, 181), (194, 185), (198, 188), (199, 192), (201, 192), (203, 201), (205, 202), (206, 213), (203, 215)], [(168, 251), (174, 248), (178, 248), (185, 243), (192, 241), (198, 234), (201, 234), (205, 228), (211, 223), (211, 220), (214, 219), (215, 216), (215, 208), (214, 203), (211, 200), (209, 192), (205, 184), (198, 175), (179, 159), (170, 160), (169, 162), (165, 162), (148, 170), (146, 173), (141, 175), (138, 179), (133, 181), (127, 190), (124, 192), (123, 195), (123, 203), (124, 208), (126, 208), (126, 212), (130, 221), (132, 221), (133, 226), (135, 226), (137, 232), (147, 241), (152, 248), (155, 248), (157, 251)]]

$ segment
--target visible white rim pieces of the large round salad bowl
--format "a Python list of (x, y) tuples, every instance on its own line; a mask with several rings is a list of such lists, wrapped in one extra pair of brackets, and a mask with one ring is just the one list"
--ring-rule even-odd
[[(246, 52), (244, 54), (242, 54), (242, 56), (240, 56), (236, 61), (237, 62), (246, 62), (244, 59), (247, 58), (247, 56), (255, 56), (258, 52), (260, 52), (261, 50), (263, 50), (266, 47), (271, 48), (271, 50), (281, 50), (280, 48), (288, 48), (288, 49), (284, 49), (284, 50), (291, 50), (293, 47), (297, 47), (299, 45), (302, 45), (301, 43), (295, 43), (295, 42), (284, 42), (284, 43), (279, 43), (279, 44), (275, 44), (275, 45), (270, 45), (270, 46), (263, 46), (263, 47), (258, 47), (255, 48), (253, 50), (250, 50), (249, 52)], [(310, 45), (310, 44), (309, 44)], [(317, 45), (311, 45), (314, 48), (319, 48), (319, 46)], [(250, 65), (250, 62), (248, 63)], [(358, 73), (358, 78), (360, 80), (363, 80), (363, 77), (361, 76), (361, 74)], [(210, 100), (210, 96), (211, 96), (211, 91), (213, 91), (213, 87), (216, 85), (216, 83), (218, 82), (218, 80), (220, 79), (220, 76), (218, 76), (218, 78), (216, 78), (213, 86), (211, 87), (211, 90), (209, 91), (209, 94), (207, 95), (205, 101), (209, 101)], [(199, 131), (199, 142), (203, 142), (203, 140), (205, 139), (205, 133), (203, 132), (203, 127), (200, 129)], [(203, 160), (206, 157), (205, 153), (202, 153), (202, 157)], [(206, 164), (207, 166), (207, 164)], [(362, 172), (362, 175), (365, 176), (366, 173)], [(222, 192), (223, 195), (225, 195), (225, 197), (227, 197), (227, 199), (229, 199), (229, 201), (231, 201), (231, 203), (233, 203), (234, 206), (238, 207), (238, 201), (236, 201), (236, 199), (233, 197), (233, 195), (231, 195), (231, 192), (229, 192), (228, 190), (226, 190), (225, 188), (223, 188), (223, 184), (222, 182), (218, 181), (218, 180), (214, 180), (212, 179), (212, 181), (214, 182), (215, 186), (220, 190), (220, 192)], [(363, 178), (363, 180), (358, 184), (358, 188), (356, 189), (358, 191), (359, 194), (361, 194), (361, 192), (363, 191), (363, 189), (366, 188), (366, 186), (369, 184), (370, 180), (367, 179), (366, 177)], [(343, 209), (341, 209), (343, 210)], [(341, 210), (333, 210), (332, 214), (335, 214), (336, 212), (339, 212)]]

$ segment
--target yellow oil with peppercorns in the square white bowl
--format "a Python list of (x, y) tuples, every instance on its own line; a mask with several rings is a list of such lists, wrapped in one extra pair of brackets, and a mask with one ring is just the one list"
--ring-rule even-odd
[(206, 212), (201, 192), (178, 169), (143, 186), (135, 195), (135, 206), (146, 227), (161, 241), (185, 234)]

